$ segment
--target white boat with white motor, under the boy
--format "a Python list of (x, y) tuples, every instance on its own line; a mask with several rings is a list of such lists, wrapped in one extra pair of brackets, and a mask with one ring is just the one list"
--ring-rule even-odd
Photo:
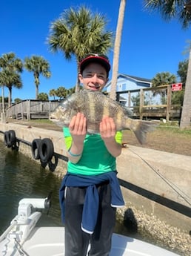
[[(37, 227), (40, 209), (50, 207), (46, 198), (24, 198), (18, 214), (1, 234), (1, 256), (64, 256), (64, 227)], [(110, 256), (175, 256), (176, 254), (141, 240), (113, 234)]]

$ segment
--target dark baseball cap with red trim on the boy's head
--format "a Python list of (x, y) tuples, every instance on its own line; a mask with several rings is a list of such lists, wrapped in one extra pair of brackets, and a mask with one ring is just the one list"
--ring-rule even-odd
[(111, 66), (110, 66), (110, 61), (107, 58), (107, 56), (105, 56), (103, 54), (89, 53), (86, 56), (84, 56), (84, 58), (79, 63), (80, 73), (82, 73), (84, 68), (86, 68), (86, 66), (88, 64), (90, 64), (91, 62), (98, 62), (98, 63), (100, 63), (106, 69), (107, 75), (110, 72)]

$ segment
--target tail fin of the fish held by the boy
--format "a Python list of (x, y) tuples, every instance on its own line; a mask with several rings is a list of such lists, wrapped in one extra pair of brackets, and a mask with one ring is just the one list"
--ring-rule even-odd
[(135, 137), (137, 137), (138, 142), (144, 144), (147, 138), (147, 132), (154, 131), (158, 126), (157, 123), (144, 120), (135, 120), (132, 119), (133, 125), (131, 130), (134, 132)]

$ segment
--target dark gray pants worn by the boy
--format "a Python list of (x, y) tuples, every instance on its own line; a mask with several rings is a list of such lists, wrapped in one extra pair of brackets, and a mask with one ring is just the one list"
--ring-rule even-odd
[(86, 188), (67, 187), (65, 198), (65, 256), (108, 256), (115, 226), (116, 209), (110, 206), (110, 184), (98, 186), (100, 206), (93, 234), (81, 230)]

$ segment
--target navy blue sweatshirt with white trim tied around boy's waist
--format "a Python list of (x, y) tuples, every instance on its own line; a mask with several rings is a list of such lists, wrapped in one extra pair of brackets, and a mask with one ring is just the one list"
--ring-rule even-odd
[(117, 171), (110, 171), (97, 176), (75, 175), (67, 173), (61, 182), (59, 200), (61, 206), (61, 220), (64, 223), (64, 190), (68, 187), (87, 187), (81, 220), (81, 229), (92, 234), (98, 217), (99, 197), (96, 185), (109, 181), (111, 187), (111, 206), (124, 206), (124, 199), (118, 183)]

